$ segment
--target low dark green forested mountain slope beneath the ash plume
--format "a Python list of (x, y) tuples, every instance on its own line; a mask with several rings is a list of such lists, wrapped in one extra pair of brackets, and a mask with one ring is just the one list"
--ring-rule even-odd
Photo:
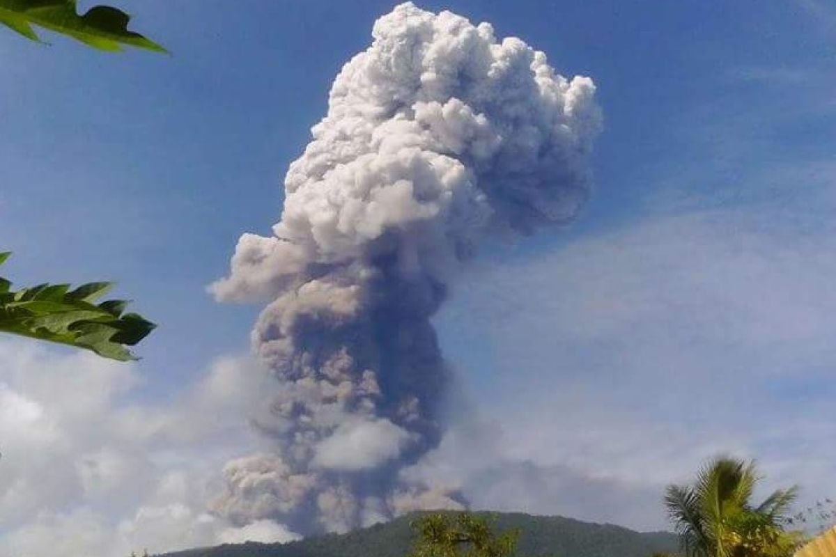
[[(559, 516), (517, 513), (477, 513), (498, 530), (519, 528), (517, 554), (524, 557), (650, 557), (655, 551), (675, 551), (676, 538), (667, 532), (640, 534), (612, 524), (592, 524)], [(405, 557), (410, 550), (408, 514), (387, 524), (330, 534), (289, 544), (224, 544), (190, 549), (163, 557)]]

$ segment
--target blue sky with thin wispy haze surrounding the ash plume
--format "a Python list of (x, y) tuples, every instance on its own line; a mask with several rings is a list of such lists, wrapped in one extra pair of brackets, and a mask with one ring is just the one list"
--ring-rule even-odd
[[(194, 393), (217, 377), (217, 362), (247, 352), (258, 308), (217, 304), (205, 286), (227, 272), (238, 235), (267, 234), (278, 220), (281, 179), (324, 114), (329, 84), (394, 6), (120, 5), (171, 57), (0, 34), (0, 236), (15, 252), (6, 273), (21, 284), (114, 279), (161, 324), (138, 365), (101, 367), (110, 387), (95, 419), (172, 400), (199, 412)], [(518, 246), (484, 246), (436, 320), (472, 404), (505, 436), (478, 448), (491, 466), (466, 463), (451, 441), (436, 468), (482, 493), (482, 506), (637, 528), (664, 526), (660, 486), (721, 450), (760, 458), (778, 484), (829, 482), (822, 491), (836, 494), (832, 449), (811, 457), (836, 426), (836, 8), (420, 5), (489, 21), (560, 73), (589, 75), (605, 119), (596, 191), (579, 220)], [(18, 371), (0, 372), (0, 387), (44, 412), (21, 370), (99, 365), (6, 342), (0, 356)], [(0, 408), (0, 432), (4, 416), (13, 427)], [(182, 454), (212, 435), (196, 433)], [(219, 460), (240, 449), (217, 446)], [(525, 465), (541, 484), (517, 473)], [(0, 480), (0, 502), (23, 489), (15, 482), (26, 468), (36, 467), (21, 460), (17, 477)], [(134, 516), (114, 503), (118, 493), (36, 498), (42, 506), (23, 519), (0, 512), (0, 533), (8, 541), (38, 513)], [(631, 513), (637, 501), (646, 510)]]

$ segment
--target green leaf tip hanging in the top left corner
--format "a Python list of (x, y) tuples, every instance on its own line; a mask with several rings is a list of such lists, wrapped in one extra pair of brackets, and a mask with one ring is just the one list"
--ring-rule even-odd
[(96, 6), (84, 15), (76, 0), (0, 0), (0, 23), (41, 42), (33, 25), (75, 38), (93, 48), (116, 52), (123, 45), (165, 53), (165, 48), (128, 30), (130, 16), (117, 8)]

